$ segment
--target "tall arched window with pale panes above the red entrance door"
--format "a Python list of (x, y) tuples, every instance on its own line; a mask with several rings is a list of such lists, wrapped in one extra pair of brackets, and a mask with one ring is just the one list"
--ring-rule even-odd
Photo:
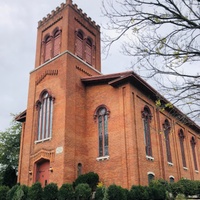
[(38, 134), (37, 141), (50, 139), (52, 136), (53, 98), (46, 90), (37, 102)]

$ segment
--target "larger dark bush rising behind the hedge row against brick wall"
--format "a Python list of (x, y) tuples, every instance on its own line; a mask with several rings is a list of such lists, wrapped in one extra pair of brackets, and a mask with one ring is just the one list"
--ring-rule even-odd
[(99, 175), (94, 172), (89, 172), (87, 174), (80, 175), (74, 182), (74, 187), (80, 183), (87, 183), (92, 191), (96, 189), (96, 186), (99, 182)]

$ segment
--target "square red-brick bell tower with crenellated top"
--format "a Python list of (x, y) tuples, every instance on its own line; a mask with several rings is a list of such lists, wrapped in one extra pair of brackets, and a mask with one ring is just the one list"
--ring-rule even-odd
[(60, 186), (76, 179), (77, 166), (84, 173), (86, 94), (81, 78), (101, 74), (100, 50), (100, 27), (72, 0), (38, 22), (21, 139), (21, 184)]

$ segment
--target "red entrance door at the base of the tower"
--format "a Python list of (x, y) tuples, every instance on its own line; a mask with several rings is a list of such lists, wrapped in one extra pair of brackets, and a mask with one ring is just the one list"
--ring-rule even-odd
[(40, 182), (42, 187), (49, 183), (49, 160), (42, 160), (37, 163), (36, 182)]

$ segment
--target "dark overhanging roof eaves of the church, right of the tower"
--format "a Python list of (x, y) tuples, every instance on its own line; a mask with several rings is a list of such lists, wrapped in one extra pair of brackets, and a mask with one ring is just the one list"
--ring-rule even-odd
[[(144, 81), (139, 75), (133, 71), (127, 71), (122, 73), (98, 75), (87, 78), (82, 78), (81, 81), (86, 86), (108, 84), (112, 87), (119, 87), (121, 85), (130, 83), (134, 87), (138, 88), (142, 93), (148, 95), (148, 97), (156, 102), (158, 99), (161, 100), (163, 105), (170, 103), (165, 97), (158, 93), (153, 87), (151, 87), (146, 81)], [(173, 106), (173, 108), (166, 107), (165, 110), (170, 113), (177, 121), (185, 124), (196, 133), (200, 134), (200, 126), (192, 121), (187, 115), (181, 112), (178, 108)]]

